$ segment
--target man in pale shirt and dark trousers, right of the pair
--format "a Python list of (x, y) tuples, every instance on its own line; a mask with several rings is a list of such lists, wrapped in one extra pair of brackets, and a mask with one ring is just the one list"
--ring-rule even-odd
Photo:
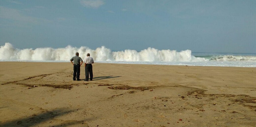
[(85, 80), (89, 80), (89, 74), (90, 74), (90, 80), (92, 80), (93, 74), (92, 74), (92, 65), (94, 63), (93, 59), (90, 57), (90, 54), (87, 53), (87, 57), (84, 59), (84, 67), (85, 67)]

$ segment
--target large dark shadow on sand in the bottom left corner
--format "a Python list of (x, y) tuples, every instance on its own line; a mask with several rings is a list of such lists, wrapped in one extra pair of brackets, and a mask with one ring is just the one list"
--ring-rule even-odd
[[(88, 126), (84, 121), (76, 120), (58, 120), (57, 117), (74, 112), (75, 110), (55, 109), (52, 111), (45, 111), (40, 114), (33, 114), (28, 117), (15, 119), (12, 121), (1, 122), (0, 127), (31, 127), (31, 126), (51, 126), (51, 127), (66, 127), (66, 126)], [(91, 119), (90, 119), (91, 120)]]

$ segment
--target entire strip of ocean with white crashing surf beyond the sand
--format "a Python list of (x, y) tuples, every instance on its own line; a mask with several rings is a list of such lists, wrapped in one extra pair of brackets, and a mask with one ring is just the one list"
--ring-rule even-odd
[(69, 62), (76, 52), (83, 60), (90, 53), (95, 63), (256, 67), (256, 53), (178, 52), (155, 48), (111, 51), (104, 46), (96, 50), (84, 46), (15, 49), (10, 43), (0, 46), (0, 62)]

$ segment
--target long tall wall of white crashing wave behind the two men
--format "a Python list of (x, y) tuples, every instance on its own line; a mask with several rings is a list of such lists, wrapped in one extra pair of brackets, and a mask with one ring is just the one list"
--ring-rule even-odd
[(94, 61), (149, 61), (149, 62), (200, 62), (208, 59), (194, 57), (191, 50), (177, 52), (175, 50), (158, 50), (148, 48), (141, 51), (124, 50), (111, 51), (104, 46), (96, 50), (81, 46), (80, 48), (67, 46), (65, 48), (37, 48), (15, 49), (12, 44), (5, 43), (0, 47), (0, 60), (30, 60), (30, 61), (69, 61), (75, 53), (84, 59), (87, 53), (91, 54)]

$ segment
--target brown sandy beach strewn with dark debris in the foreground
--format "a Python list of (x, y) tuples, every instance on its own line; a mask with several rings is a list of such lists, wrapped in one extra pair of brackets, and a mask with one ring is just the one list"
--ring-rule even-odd
[[(256, 68), (0, 62), (1, 127), (254, 127)], [(84, 79), (81, 67), (80, 79)]]

